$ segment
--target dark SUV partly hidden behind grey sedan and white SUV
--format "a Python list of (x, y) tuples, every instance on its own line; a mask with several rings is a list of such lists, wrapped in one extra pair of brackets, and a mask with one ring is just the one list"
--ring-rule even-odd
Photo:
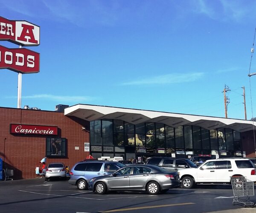
[(151, 157), (147, 158), (145, 164), (156, 165), (168, 171), (177, 172), (180, 169), (196, 168), (192, 161), (185, 158)]

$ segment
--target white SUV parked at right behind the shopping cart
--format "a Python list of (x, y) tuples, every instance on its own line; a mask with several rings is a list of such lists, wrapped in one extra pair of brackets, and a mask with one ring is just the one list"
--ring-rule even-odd
[(194, 187), (195, 184), (230, 184), (232, 176), (244, 176), (256, 182), (256, 169), (247, 158), (208, 160), (197, 168), (178, 170), (178, 173), (181, 186), (186, 189)]

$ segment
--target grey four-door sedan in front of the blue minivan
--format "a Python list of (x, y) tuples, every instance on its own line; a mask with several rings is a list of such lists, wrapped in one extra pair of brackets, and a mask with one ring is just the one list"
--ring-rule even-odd
[(154, 165), (131, 165), (123, 167), (111, 175), (92, 178), (88, 189), (97, 194), (108, 191), (143, 190), (151, 195), (165, 193), (179, 186), (177, 172), (168, 172)]

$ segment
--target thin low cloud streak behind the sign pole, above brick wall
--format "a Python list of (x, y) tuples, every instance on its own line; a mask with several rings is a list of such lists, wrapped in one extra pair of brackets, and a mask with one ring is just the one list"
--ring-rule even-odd
[[(17, 98), (17, 96), (8, 96), (6, 98)], [(67, 95), (50, 95), (50, 94), (38, 94), (22, 96), (23, 99), (41, 99), (50, 101), (63, 101), (65, 103), (79, 103), (83, 101), (92, 101), (96, 98), (90, 96), (67, 96)]]

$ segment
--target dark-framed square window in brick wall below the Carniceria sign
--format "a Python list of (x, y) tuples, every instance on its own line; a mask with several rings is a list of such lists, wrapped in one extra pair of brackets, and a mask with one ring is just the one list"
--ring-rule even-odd
[(52, 158), (66, 157), (66, 138), (46, 138), (46, 156)]

